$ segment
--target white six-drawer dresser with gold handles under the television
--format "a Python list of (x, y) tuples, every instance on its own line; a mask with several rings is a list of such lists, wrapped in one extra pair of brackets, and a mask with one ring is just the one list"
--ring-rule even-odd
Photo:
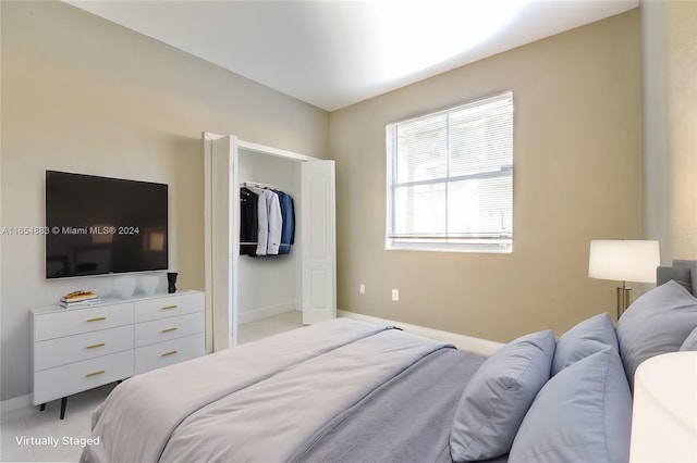
[(200, 356), (205, 323), (200, 291), (33, 309), (34, 404)]

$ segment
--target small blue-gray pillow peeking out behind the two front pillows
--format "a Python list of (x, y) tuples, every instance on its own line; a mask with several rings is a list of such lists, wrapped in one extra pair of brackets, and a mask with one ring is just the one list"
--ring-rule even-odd
[(578, 362), (580, 359), (601, 351), (608, 346), (620, 353), (617, 335), (608, 312), (584, 320), (557, 341), (552, 360), (552, 376)]

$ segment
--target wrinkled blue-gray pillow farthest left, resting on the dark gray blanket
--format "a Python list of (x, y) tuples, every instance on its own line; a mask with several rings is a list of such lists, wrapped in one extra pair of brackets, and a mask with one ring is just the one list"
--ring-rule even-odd
[(465, 387), (450, 433), (456, 462), (486, 460), (511, 450), (533, 399), (549, 379), (551, 329), (517, 338), (477, 370)]

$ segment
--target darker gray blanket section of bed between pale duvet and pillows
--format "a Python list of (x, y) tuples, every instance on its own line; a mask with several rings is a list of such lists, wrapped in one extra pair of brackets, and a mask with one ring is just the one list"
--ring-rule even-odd
[(450, 424), (484, 358), (440, 349), (339, 414), (294, 462), (452, 462)]

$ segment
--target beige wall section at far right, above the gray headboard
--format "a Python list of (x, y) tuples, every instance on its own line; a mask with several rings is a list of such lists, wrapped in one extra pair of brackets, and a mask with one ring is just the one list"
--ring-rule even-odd
[(641, 2), (646, 230), (697, 259), (697, 1)]

